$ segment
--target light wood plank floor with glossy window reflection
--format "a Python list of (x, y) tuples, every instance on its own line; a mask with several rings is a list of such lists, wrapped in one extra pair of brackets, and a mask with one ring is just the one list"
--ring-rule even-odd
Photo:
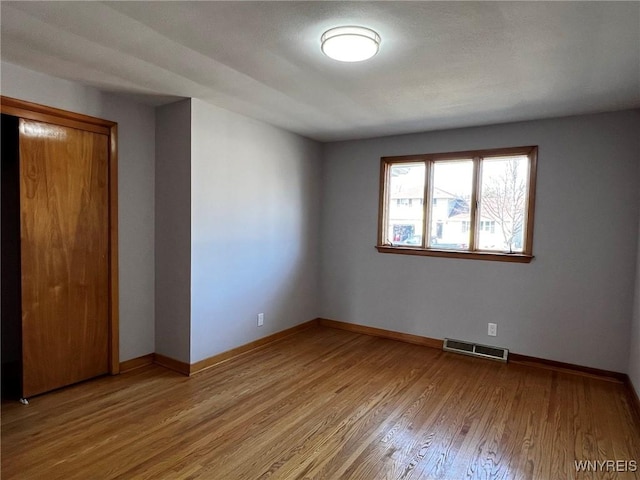
[(314, 327), (2, 405), (2, 479), (637, 479), (624, 385)]

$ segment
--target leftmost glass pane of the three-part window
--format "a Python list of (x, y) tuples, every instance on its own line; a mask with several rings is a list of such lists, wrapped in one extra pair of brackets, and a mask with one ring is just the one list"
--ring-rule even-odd
[(423, 163), (391, 166), (385, 243), (407, 247), (422, 246), (424, 172)]

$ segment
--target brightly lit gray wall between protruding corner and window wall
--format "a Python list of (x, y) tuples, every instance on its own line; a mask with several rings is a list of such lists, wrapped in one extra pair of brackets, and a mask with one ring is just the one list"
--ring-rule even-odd
[(322, 151), (196, 99), (191, 125), (196, 362), (318, 316)]

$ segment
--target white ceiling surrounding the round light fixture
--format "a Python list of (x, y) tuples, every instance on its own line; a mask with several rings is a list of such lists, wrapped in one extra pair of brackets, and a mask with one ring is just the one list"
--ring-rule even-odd
[[(640, 2), (5, 2), (2, 60), (333, 141), (640, 107)], [(320, 51), (358, 24), (372, 60)]]

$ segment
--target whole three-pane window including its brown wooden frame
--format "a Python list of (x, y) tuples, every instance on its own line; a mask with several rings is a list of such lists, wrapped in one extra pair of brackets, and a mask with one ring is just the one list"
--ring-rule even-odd
[(530, 262), (537, 151), (383, 157), (376, 248)]

